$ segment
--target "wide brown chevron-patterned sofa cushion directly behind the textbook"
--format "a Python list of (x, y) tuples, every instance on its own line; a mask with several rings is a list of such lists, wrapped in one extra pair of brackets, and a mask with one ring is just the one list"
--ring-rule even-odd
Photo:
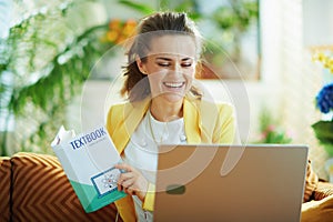
[(21, 152), (11, 162), (12, 221), (114, 221), (117, 218), (113, 203), (85, 213), (56, 157)]

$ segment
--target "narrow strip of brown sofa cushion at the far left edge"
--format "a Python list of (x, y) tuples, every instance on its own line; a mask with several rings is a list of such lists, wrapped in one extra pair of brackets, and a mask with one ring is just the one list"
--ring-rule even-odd
[(0, 221), (10, 221), (10, 159), (0, 158)]

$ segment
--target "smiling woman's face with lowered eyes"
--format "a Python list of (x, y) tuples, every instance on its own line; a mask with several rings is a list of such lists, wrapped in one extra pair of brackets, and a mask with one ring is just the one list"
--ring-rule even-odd
[(195, 43), (190, 36), (163, 36), (152, 40), (144, 62), (137, 60), (148, 74), (152, 99), (182, 101), (195, 73)]

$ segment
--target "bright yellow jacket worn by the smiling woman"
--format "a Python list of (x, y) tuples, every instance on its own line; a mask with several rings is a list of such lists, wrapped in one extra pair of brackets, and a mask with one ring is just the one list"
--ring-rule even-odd
[[(150, 107), (150, 98), (139, 102), (112, 105), (108, 113), (107, 129), (119, 153), (127, 147), (130, 137), (138, 128)], [(215, 104), (205, 100), (189, 98), (183, 104), (184, 129), (188, 143), (233, 143), (235, 118), (230, 104)], [(149, 184), (143, 209), (153, 210), (154, 185)], [(124, 221), (137, 221), (133, 200), (130, 195), (115, 201)]]

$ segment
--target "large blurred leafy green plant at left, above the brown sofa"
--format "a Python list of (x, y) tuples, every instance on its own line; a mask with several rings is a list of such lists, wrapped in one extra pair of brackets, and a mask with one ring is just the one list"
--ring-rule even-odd
[[(50, 152), (50, 141), (65, 122), (65, 109), (108, 50), (101, 42), (108, 23), (85, 26), (81, 6), (93, 1), (56, 1), (30, 13), (0, 41), (0, 154), (8, 135), (20, 150)], [(20, 3), (20, 2), (17, 2)], [(54, 7), (56, 6), (56, 7)], [(14, 128), (10, 125), (14, 119)]]

